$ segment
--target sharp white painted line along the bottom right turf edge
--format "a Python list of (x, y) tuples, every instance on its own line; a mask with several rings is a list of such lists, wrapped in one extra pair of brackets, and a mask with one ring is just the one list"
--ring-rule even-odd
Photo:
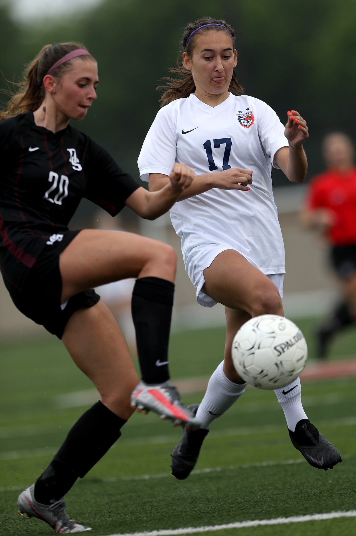
[(242, 521), (226, 523), (225, 525), (211, 525), (205, 527), (175, 528), (172, 530), (159, 530), (150, 532), (117, 533), (110, 536), (179, 536), (179, 534), (196, 534), (199, 532), (222, 531), (228, 528), (258, 527), (261, 525), (284, 525), (287, 523), (305, 523), (306, 521), (323, 521), (325, 519), (338, 519), (340, 517), (356, 517), (356, 510), (348, 512), (314, 513), (309, 516), (277, 517), (276, 519), (261, 519), (255, 521)]

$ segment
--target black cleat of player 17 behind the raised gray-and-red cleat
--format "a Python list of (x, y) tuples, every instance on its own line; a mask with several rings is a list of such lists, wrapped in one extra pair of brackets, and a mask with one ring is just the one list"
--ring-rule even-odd
[[(190, 410), (195, 416), (198, 407), (199, 404), (191, 404), (187, 406), (187, 410)], [(198, 461), (200, 448), (208, 431), (202, 428), (196, 430), (192, 427), (184, 427), (181, 440), (171, 453), (172, 463), (170, 467), (172, 467), (173, 477), (176, 477), (178, 480), (184, 480), (189, 477), (196, 461)]]

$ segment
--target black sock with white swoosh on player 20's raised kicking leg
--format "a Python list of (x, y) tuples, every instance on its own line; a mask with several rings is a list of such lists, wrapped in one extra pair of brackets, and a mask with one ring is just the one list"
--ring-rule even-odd
[(158, 277), (137, 279), (132, 292), (132, 319), (145, 383), (169, 379), (168, 343), (175, 285)]

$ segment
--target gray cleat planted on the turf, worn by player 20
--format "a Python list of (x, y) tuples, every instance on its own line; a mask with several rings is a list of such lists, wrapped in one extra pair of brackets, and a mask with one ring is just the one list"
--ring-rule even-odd
[(91, 531), (90, 527), (79, 525), (74, 519), (69, 519), (65, 511), (65, 502), (52, 500), (50, 504), (41, 504), (34, 497), (35, 485), (25, 489), (20, 493), (17, 500), (20, 516), (27, 515), (27, 518), (37, 517), (46, 521), (56, 534), (73, 534), (74, 532)]

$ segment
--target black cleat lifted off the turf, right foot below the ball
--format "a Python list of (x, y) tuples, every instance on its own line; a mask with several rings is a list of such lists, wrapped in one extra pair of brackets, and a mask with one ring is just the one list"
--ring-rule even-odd
[(340, 452), (319, 433), (309, 419), (299, 421), (296, 431), (288, 431), (293, 445), (313, 467), (327, 471), (343, 461)]

